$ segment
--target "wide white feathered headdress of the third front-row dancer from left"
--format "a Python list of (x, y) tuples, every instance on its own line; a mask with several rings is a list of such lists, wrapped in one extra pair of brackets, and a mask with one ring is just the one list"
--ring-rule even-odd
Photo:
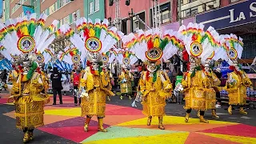
[(184, 47), (181, 38), (182, 34), (172, 30), (162, 34), (161, 30), (156, 28), (145, 32), (138, 30), (138, 36), (128, 34), (122, 38), (122, 42), (143, 62), (158, 62), (161, 58), (166, 61), (177, 54), (179, 48)]

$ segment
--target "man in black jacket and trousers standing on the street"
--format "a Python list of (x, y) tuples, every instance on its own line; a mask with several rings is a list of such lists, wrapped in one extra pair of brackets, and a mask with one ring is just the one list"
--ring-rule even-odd
[(54, 92), (54, 103), (53, 105), (56, 105), (56, 96), (58, 92), (59, 97), (59, 103), (62, 104), (62, 74), (58, 72), (57, 67), (54, 67), (53, 74), (50, 74), (50, 80), (52, 82), (52, 88)]

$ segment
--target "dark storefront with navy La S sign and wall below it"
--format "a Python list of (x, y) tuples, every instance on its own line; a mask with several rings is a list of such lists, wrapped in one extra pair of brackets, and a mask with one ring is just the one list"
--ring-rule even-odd
[(230, 1), (232, 5), (196, 16), (197, 22), (213, 26), (220, 34), (237, 34), (243, 39), (241, 63), (251, 63), (256, 56), (256, 1)]

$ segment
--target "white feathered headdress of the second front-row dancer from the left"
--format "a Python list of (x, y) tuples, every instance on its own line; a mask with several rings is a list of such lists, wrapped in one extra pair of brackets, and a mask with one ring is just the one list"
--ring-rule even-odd
[(95, 19), (93, 22), (90, 19), (79, 18), (76, 21), (77, 33), (68, 34), (70, 26), (63, 25), (61, 29), (64, 34), (70, 37), (70, 41), (81, 51), (81, 58), (87, 59), (90, 62), (100, 62), (102, 53), (106, 53), (118, 42), (123, 34), (116, 27), (108, 29), (108, 20)]

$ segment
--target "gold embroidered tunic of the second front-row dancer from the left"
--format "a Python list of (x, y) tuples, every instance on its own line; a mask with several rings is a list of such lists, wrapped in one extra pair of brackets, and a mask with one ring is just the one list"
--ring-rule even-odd
[(88, 96), (82, 97), (82, 117), (89, 115), (90, 117), (97, 115), (105, 117), (106, 96), (113, 96), (114, 93), (106, 88), (109, 79), (105, 79), (105, 73), (99, 75), (91, 74), (90, 67), (84, 71), (83, 77), (80, 79), (80, 86), (85, 87)]

